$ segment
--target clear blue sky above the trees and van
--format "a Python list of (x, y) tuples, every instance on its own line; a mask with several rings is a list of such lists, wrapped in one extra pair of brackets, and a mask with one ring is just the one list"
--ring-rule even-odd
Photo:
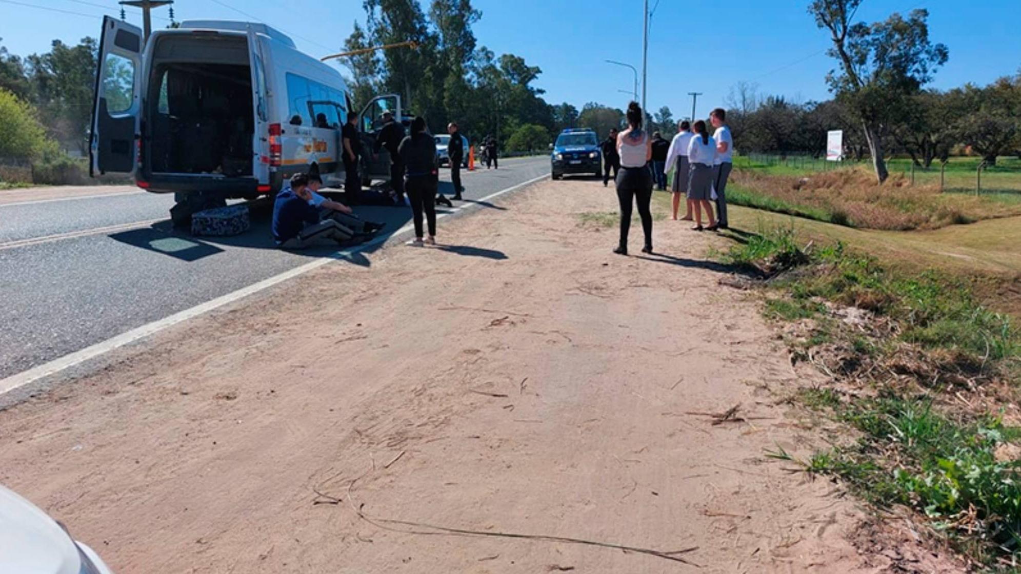
[[(650, 5), (655, 4), (650, 0)], [(616, 59), (641, 69), (641, 0), (475, 0), (482, 20), (475, 25), (480, 45), (497, 54), (524, 56), (543, 73), (536, 85), (550, 103), (588, 101), (624, 107), (631, 70), (606, 64)], [(648, 107), (668, 105), (675, 116), (689, 115), (688, 92), (702, 92), (697, 115), (723, 103), (737, 82), (758, 84), (761, 94), (808, 101), (828, 97), (823, 77), (833, 61), (823, 51), (828, 37), (806, 12), (808, 0), (661, 0), (648, 45)], [(29, 7), (45, 6), (50, 10)], [(866, 0), (866, 21), (893, 11), (929, 10), (930, 37), (950, 47), (950, 61), (933, 86), (988, 83), (1021, 68), (1019, 0)], [(66, 12), (57, 12), (65, 10)], [(0, 0), (0, 38), (12, 53), (49, 48), (52, 39), (77, 42), (96, 36), (99, 16), (116, 15), (115, 0)], [(177, 0), (178, 19), (251, 19), (294, 36), (302, 50), (323, 55), (338, 48), (361, 0)], [(166, 17), (165, 8), (155, 12)], [(140, 12), (129, 9), (129, 20)], [(165, 25), (155, 19), (154, 27)], [(639, 87), (640, 93), (640, 87)], [(640, 94), (639, 94), (640, 95)]]

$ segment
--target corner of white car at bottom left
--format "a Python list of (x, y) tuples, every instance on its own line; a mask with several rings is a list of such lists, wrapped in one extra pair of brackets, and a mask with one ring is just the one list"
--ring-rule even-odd
[(0, 572), (113, 574), (92, 549), (75, 541), (62, 524), (2, 485)]

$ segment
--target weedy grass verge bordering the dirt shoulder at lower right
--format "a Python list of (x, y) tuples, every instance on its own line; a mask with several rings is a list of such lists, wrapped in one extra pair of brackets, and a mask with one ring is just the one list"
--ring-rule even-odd
[(1016, 571), (1021, 330), (1011, 318), (945, 273), (890, 268), (840, 243), (806, 248), (789, 228), (723, 257), (769, 277), (766, 313), (793, 360), (829, 375), (793, 400), (847, 432), (797, 461), (804, 470), (913, 509), (977, 565)]

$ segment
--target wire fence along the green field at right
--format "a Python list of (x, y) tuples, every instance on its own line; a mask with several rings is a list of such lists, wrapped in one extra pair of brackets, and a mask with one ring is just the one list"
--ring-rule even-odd
[[(868, 159), (827, 161), (808, 154), (745, 154), (735, 158), (735, 167), (762, 168), (778, 174), (872, 169)], [(890, 175), (904, 177), (912, 186), (933, 186), (946, 193), (1021, 194), (1021, 158), (1002, 157), (994, 164), (976, 157), (954, 157), (934, 161), (928, 167), (911, 159), (886, 161)]]

